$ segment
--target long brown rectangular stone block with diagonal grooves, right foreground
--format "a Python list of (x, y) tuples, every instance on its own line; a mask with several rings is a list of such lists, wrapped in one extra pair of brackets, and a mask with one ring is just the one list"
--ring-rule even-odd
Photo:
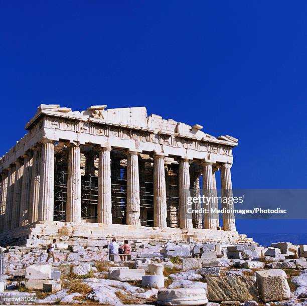
[(210, 300), (257, 300), (258, 292), (254, 276), (207, 277)]

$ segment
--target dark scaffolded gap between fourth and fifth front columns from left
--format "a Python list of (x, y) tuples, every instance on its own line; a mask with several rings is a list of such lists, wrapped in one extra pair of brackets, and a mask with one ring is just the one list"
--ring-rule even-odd
[(146, 155), (138, 159), (140, 222), (154, 226), (154, 161)]

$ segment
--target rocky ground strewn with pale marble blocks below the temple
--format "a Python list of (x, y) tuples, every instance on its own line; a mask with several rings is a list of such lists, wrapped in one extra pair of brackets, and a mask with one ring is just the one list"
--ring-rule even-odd
[[(74, 246), (58, 249), (57, 262), (49, 264), (45, 250), (10, 247), (0, 302), (10, 304), (5, 298), (14, 297), (11, 304), (307, 306), (306, 246), (131, 245), (130, 261), (108, 261), (107, 246)], [(145, 275), (156, 282), (145, 286)]]

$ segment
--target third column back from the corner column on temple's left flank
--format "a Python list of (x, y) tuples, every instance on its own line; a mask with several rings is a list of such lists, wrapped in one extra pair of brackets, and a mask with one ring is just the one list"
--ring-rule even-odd
[(22, 181), (23, 181), (23, 174), (24, 174), (24, 165), (22, 164), (22, 162), (18, 160), (15, 162), (15, 165), (16, 165), (16, 170), (15, 170), (11, 228), (19, 227), (21, 189), (22, 189)]

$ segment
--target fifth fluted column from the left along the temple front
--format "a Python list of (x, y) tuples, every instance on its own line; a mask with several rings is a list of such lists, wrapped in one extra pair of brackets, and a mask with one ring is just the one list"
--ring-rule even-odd
[(167, 227), (164, 156), (154, 156), (154, 226)]

